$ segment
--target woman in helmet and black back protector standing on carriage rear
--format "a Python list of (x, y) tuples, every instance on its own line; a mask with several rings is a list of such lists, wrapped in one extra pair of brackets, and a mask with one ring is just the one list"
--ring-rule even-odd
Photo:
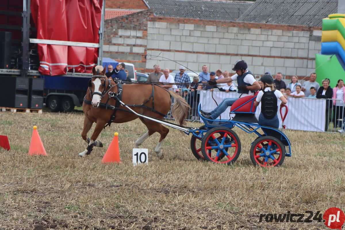
[[(279, 128), (279, 119), (278, 119), (278, 99), (282, 101), (280, 106), (286, 104), (287, 100), (283, 96), (282, 92), (275, 89), (275, 85), (273, 84), (273, 77), (270, 74), (264, 74), (260, 81), (264, 83), (264, 90), (260, 90), (256, 100), (254, 102), (255, 106), (258, 106), (260, 101), (261, 102), (261, 113), (259, 115), (259, 125), (261, 126), (269, 126), (274, 128)], [(271, 91), (274, 93), (274, 96), (269, 96), (267, 91)]]

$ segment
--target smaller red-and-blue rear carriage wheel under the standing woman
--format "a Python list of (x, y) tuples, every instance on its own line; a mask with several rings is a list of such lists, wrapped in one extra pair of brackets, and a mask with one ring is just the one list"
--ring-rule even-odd
[(252, 148), (250, 148), (250, 160), (256, 166), (280, 166), (284, 159), (284, 144), (275, 137), (260, 137), (253, 142)]

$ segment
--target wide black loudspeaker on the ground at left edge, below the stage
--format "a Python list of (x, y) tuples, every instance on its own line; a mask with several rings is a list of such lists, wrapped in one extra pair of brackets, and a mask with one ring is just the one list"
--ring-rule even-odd
[(0, 107), (28, 108), (29, 78), (0, 76)]

